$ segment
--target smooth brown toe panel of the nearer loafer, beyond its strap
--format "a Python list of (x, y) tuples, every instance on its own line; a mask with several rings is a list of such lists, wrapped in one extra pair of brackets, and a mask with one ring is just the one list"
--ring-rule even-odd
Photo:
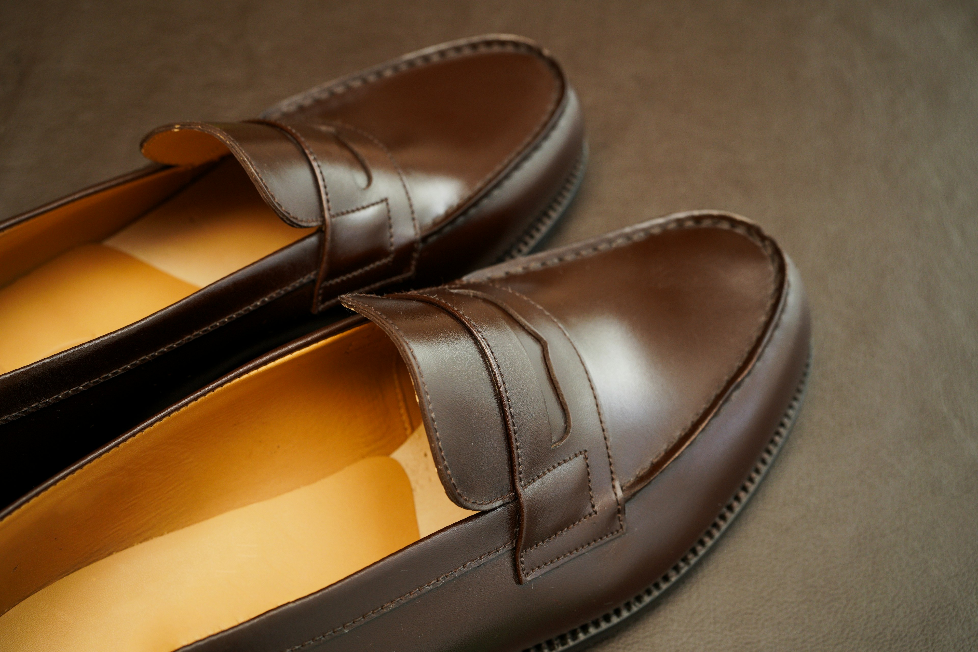
[(749, 365), (784, 278), (777, 245), (749, 223), (691, 214), (625, 233), (464, 281), (531, 296), (571, 333), (629, 487), (688, 444)]

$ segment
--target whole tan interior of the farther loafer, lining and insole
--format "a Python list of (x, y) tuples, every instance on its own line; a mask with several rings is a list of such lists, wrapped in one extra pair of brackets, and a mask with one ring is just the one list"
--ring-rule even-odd
[(231, 157), (12, 227), (0, 233), (0, 373), (138, 322), (311, 231), (279, 219)]

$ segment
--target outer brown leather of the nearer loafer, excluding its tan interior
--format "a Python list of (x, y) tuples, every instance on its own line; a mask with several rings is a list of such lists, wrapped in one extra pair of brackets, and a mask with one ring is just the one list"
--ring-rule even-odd
[[(398, 345), (446, 492), (481, 511), (187, 650), (357, 650), (391, 641), (406, 650), (521, 650), (600, 618), (729, 518), (724, 505), (756, 477), (796, 405), (811, 335), (804, 287), (777, 244), (749, 222), (711, 212), (652, 221), (459, 283), (344, 303)], [(328, 327), (221, 382), (359, 324)], [(434, 354), (436, 345), (444, 355)], [(575, 391), (575, 360), (591, 392)], [(562, 401), (530, 385), (507, 394), (507, 371), (516, 386), (517, 375), (546, 373)], [(517, 433), (520, 421), (528, 427)], [(527, 482), (520, 463), (533, 472), (530, 463), (564, 455), (560, 447), (591, 452), (605, 438), (621, 502), (599, 498), (595, 511), (621, 515), (623, 531), (567, 554), (561, 519), (600, 493), (600, 479), (589, 479), (590, 492), (573, 472), (537, 486), (548, 474)], [(507, 488), (492, 504), (465, 498)], [(548, 529), (563, 533), (548, 542), (559, 563), (523, 573), (525, 543)]]

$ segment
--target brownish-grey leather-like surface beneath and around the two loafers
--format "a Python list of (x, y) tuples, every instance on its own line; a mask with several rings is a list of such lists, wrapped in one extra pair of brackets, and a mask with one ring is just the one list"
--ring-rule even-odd
[(798, 427), (714, 551), (602, 652), (978, 648), (978, 5), (0, 4), (0, 215), (178, 119), (522, 33), (584, 104), (552, 243), (689, 208), (765, 226), (815, 315)]

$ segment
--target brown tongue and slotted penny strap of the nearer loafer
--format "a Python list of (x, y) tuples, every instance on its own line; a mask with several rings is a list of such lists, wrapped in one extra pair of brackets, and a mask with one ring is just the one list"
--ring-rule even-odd
[(472, 509), (518, 501), (520, 582), (624, 533), (597, 394), (544, 308), (491, 284), (343, 303), (406, 354), (449, 495)]

